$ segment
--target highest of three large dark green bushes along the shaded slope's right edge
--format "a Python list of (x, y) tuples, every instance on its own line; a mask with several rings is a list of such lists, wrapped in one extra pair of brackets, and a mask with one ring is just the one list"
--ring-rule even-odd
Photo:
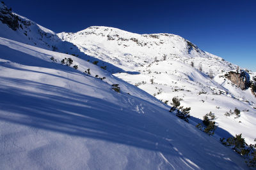
[(176, 112), (176, 116), (181, 118), (182, 120), (189, 122), (188, 118), (190, 117), (189, 111), (191, 108), (184, 108), (183, 106), (180, 106), (180, 100), (177, 97), (172, 98), (173, 107), (170, 109), (170, 112)]

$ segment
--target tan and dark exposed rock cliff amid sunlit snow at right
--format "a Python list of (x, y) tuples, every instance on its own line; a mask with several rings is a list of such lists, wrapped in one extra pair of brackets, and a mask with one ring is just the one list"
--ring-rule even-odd
[(248, 89), (251, 85), (250, 75), (246, 71), (241, 71), (240, 73), (230, 71), (225, 76), (242, 90)]

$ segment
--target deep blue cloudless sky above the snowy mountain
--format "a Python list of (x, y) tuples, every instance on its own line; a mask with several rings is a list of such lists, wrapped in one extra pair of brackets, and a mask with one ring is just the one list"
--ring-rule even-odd
[(139, 34), (178, 34), (202, 50), (256, 71), (256, 1), (4, 2), (13, 11), (55, 32), (104, 25)]

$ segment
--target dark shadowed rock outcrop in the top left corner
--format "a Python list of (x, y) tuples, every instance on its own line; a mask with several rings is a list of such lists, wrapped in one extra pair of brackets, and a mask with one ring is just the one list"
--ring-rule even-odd
[(8, 9), (3, 3), (0, 4), (0, 20), (14, 31), (19, 29), (20, 18), (17, 15), (14, 15), (12, 10)]

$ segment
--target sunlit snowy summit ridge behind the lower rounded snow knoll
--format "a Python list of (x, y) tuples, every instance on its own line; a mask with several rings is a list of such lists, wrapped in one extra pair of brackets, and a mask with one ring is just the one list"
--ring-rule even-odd
[(174, 34), (141, 35), (112, 27), (94, 26), (76, 33), (61, 32), (57, 35), (77, 45), (82, 52), (110, 62), (125, 71), (137, 70), (140, 66), (164, 58), (189, 64), (193, 61), (195, 67), (199, 67), (201, 63), (205, 73), (209, 73), (210, 69), (214, 74), (236, 69), (234, 64), (204, 52), (190, 41)]

